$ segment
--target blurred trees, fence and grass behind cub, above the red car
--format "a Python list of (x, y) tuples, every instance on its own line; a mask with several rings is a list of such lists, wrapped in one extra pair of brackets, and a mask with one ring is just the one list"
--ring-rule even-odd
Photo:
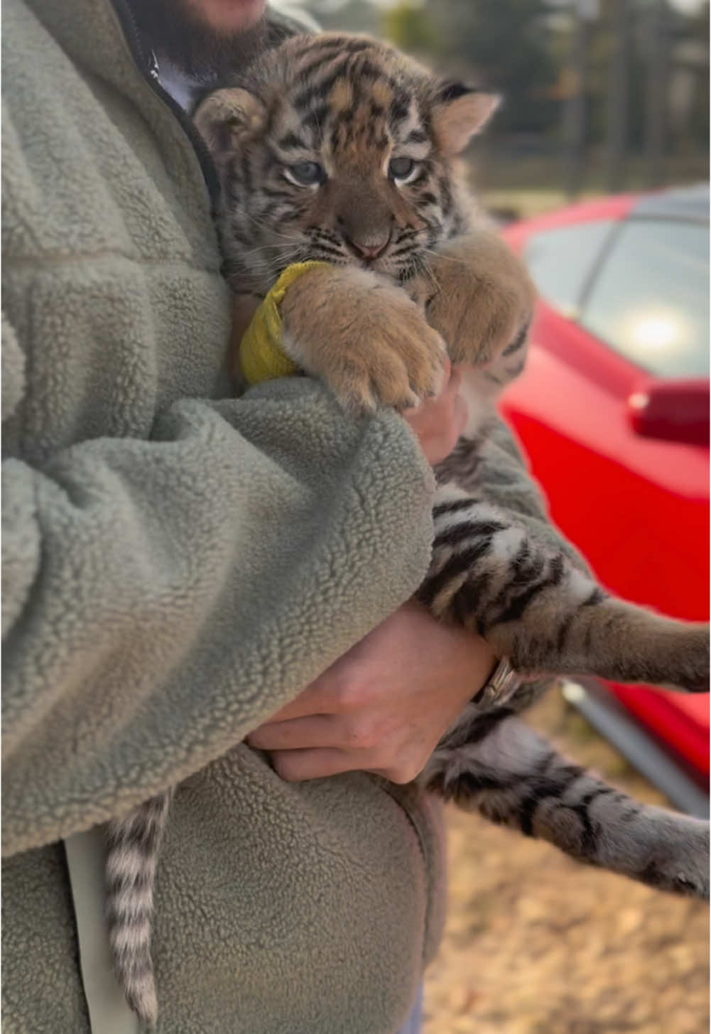
[(323, 28), (392, 40), (500, 91), (471, 150), (488, 203), (523, 216), (708, 176), (708, 0), (312, 0)]

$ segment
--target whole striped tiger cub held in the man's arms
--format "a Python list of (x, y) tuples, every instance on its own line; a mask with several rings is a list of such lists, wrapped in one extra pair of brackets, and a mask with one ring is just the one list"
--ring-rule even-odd
[[(466, 364), (470, 426), (437, 468), (432, 564), (420, 598), (476, 630), (523, 676), (480, 691), (422, 786), (581, 861), (708, 895), (707, 824), (635, 802), (516, 717), (552, 672), (708, 686), (708, 631), (611, 597), (547, 521), (495, 417), (523, 368), (533, 288), (478, 215), (457, 155), (496, 98), (440, 82), (363, 37), (299, 36), (205, 98), (195, 122), (218, 169), (218, 224), (236, 292), (260, 298), (320, 260), (282, 303), (287, 355), (352, 413), (433, 394)], [(111, 824), (116, 970), (155, 1017), (152, 890), (167, 795)]]

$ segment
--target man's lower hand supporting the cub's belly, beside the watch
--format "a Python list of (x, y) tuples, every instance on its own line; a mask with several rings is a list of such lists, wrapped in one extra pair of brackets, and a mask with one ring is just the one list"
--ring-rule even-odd
[(408, 783), (495, 663), (484, 639), (407, 603), (247, 742), (285, 780), (365, 770)]

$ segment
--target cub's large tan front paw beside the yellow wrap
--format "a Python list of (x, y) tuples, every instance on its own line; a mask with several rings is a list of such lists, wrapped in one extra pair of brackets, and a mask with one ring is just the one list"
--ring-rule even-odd
[(446, 349), (422, 306), (367, 270), (319, 267), (287, 290), (282, 347), (354, 414), (436, 394)]

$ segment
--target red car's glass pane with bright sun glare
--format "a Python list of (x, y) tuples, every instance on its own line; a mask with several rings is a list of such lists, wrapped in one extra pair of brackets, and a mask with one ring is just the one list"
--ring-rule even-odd
[(709, 227), (630, 219), (585, 293), (580, 323), (657, 376), (709, 373)]

